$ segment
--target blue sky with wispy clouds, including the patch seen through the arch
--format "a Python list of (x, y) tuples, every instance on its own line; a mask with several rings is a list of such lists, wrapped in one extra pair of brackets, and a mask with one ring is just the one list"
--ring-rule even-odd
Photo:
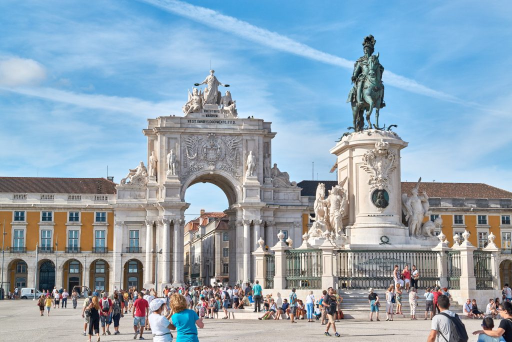
[[(120, 180), (145, 160), (148, 117), (181, 115), (212, 68), (239, 114), (272, 122), (273, 162), (292, 180), (334, 179), (329, 149), (351, 125), (352, 61), (368, 34), (387, 107), (409, 142), (402, 180), (512, 190), (509, 2), (170, 0), (0, 3), (4, 176)], [(293, 149), (290, 149), (293, 146)], [(316, 175), (317, 174), (317, 175)], [(205, 196), (207, 194), (207, 196)], [(190, 215), (222, 210), (190, 187)]]

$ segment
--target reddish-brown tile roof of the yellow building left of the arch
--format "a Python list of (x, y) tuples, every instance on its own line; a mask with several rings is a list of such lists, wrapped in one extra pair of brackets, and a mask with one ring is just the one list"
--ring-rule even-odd
[(105, 178), (0, 177), (0, 193), (106, 195), (116, 185)]

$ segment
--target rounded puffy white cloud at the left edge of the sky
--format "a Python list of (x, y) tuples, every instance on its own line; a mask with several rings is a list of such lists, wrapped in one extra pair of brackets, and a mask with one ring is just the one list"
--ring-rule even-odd
[(35, 86), (45, 78), (45, 68), (33, 59), (11, 57), (0, 60), (0, 86)]

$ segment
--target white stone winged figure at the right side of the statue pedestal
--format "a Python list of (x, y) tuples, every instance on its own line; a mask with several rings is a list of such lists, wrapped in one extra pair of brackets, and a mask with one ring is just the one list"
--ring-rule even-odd
[(406, 216), (411, 237), (433, 237), (431, 226), (434, 223), (432, 221), (423, 223), (423, 218), (429, 217), (431, 211), (429, 210), (429, 196), (426, 192), (423, 191), (422, 195), (418, 195), (420, 182), (421, 177), (416, 186), (412, 188), (411, 197), (408, 197), (407, 194), (402, 194), (402, 211)]

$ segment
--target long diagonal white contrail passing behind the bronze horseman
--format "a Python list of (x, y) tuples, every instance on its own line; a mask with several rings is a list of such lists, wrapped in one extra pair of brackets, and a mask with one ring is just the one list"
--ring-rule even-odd
[[(268, 31), (244, 22), (243, 20), (223, 15), (208, 8), (190, 5), (178, 0), (141, 1), (159, 7), (167, 12), (172, 12), (202, 23), (206, 26), (214, 27), (218, 30), (229, 32), (244, 39), (258, 42), (263, 46), (267, 46), (275, 50), (285, 51), (297, 56), (306, 57), (349, 70), (352, 70), (354, 67), (354, 62), (351, 60), (313, 49), (306, 44), (302, 44), (301, 42), (288, 38), (282, 34)], [(430, 89), (413, 79), (397, 75), (391, 71), (386, 71), (386, 84), (416, 94), (430, 96), (445, 101), (463, 103), (462, 100), (455, 96)]]

